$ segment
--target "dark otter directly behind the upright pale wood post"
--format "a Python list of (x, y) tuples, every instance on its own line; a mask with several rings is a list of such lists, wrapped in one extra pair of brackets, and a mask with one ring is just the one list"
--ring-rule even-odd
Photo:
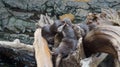
[[(54, 37), (58, 33), (57, 28), (63, 25), (63, 22), (60, 20), (55, 20), (52, 25), (46, 24), (42, 27), (42, 36), (47, 40), (49, 47), (52, 48), (54, 45)], [(61, 34), (59, 37), (62, 37)]]

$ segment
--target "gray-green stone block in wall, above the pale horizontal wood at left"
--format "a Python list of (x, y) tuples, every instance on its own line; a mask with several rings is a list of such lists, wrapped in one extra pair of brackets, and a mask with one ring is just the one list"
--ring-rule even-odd
[(11, 17), (5, 29), (11, 33), (25, 33), (28, 30), (30, 33), (35, 31), (35, 24)]

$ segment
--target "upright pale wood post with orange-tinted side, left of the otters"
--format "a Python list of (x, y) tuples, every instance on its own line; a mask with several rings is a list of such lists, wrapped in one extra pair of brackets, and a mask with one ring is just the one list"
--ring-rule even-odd
[(50, 50), (47, 41), (41, 36), (41, 29), (36, 29), (34, 33), (35, 58), (37, 67), (53, 67)]

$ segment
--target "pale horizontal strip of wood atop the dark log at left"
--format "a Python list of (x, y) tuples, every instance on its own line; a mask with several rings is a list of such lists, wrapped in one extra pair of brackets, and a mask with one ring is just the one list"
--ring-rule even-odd
[(31, 54), (34, 53), (34, 49), (32, 45), (20, 43), (19, 39), (15, 39), (13, 42), (0, 41), (0, 47), (28, 51)]

